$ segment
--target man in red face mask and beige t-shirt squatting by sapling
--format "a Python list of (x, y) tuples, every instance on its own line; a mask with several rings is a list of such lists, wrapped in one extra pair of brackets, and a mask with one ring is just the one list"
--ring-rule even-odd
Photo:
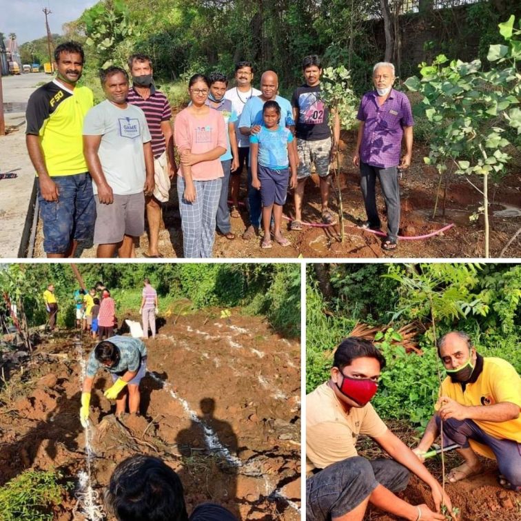
[[(335, 351), (331, 378), (307, 395), (307, 521), (362, 520), (368, 502), (413, 521), (445, 519), (439, 513), (442, 503), (451, 512), (451, 501), (438, 481), (369, 403), (383, 367), (385, 358), (369, 340), (351, 336)], [(358, 456), (360, 433), (374, 438), (394, 459)], [(394, 495), (407, 487), (407, 469), (429, 485), (437, 512)]]

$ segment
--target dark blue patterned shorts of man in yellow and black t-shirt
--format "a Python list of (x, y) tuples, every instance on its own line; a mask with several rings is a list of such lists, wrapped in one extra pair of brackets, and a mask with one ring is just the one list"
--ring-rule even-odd
[(58, 201), (45, 201), (38, 183), (43, 249), (45, 253), (64, 254), (72, 241), (92, 238), (96, 221), (92, 178), (85, 172), (72, 176), (53, 176), (52, 181), (59, 190)]

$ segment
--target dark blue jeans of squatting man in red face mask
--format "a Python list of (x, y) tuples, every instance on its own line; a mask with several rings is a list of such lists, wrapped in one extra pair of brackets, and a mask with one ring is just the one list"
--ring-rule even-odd
[(394, 460), (361, 456), (339, 461), (306, 480), (306, 521), (339, 518), (381, 484), (392, 492), (407, 487), (409, 471)]

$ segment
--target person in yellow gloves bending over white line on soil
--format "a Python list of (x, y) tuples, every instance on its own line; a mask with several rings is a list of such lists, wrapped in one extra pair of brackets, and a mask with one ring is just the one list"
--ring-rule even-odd
[(147, 370), (147, 348), (139, 338), (112, 336), (96, 345), (89, 356), (81, 393), (80, 420), (83, 427), (88, 425), (92, 382), (102, 367), (112, 376), (113, 385), (103, 395), (116, 400), (116, 416), (125, 412), (127, 395), (130, 413), (139, 412), (139, 382)]

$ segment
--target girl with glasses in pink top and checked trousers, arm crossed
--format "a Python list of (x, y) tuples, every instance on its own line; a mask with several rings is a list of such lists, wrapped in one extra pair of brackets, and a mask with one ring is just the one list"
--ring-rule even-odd
[(192, 76), (188, 83), (192, 103), (179, 112), (174, 124), (174, 140), (181, 156), (177, 194), (183, 254), (190, 258), (212, 256), (224, 177), (220, 158), (226, 152), (226, 127), (223, 115), (205, 105), (209, 90), (206, 76)]

